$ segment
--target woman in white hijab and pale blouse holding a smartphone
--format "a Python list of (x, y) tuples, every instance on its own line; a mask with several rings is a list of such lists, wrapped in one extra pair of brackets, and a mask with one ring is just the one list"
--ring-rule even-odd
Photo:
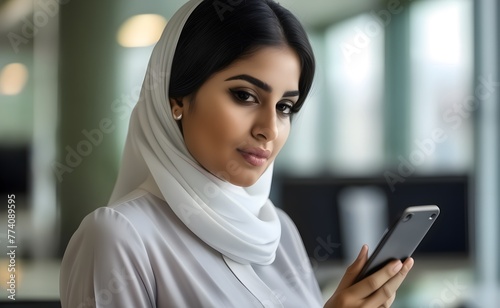
[[(61, 267), (63, 307), (320, 307), (291, 220), (268, 199), (273, 161), (314, 75), (296, 18), (271, 0), (186, 3), (169, 21), (130, 121), (107, 207)], [(413, 261), (326, 307), (388, 307)]]

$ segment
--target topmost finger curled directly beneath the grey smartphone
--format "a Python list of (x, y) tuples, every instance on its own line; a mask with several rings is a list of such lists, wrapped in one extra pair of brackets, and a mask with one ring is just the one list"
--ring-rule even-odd
[[(401, 261), (393, 260), (377, 272), (371, 274), (370, 276), (355, 284), (352, 288), (352, 291), (363, 298), (368, 297), (372, 293), (380, 289), (383, 285), (385, 285), (401, 270), (402, 267), (403, 263)], [(384, 301), (381, 301), (377, 306), (373, 307), (378, 307), (383, 302)]]

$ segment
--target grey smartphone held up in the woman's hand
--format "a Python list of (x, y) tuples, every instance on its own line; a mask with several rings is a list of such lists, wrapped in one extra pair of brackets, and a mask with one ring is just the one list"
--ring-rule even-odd
[(410, 257), (438, 218), (439, 212), (436, 205), (406, 208), (398, 220), (385, 231), (356, 282), (378, 271), (391, 260), (399, 259), (403, 262)]

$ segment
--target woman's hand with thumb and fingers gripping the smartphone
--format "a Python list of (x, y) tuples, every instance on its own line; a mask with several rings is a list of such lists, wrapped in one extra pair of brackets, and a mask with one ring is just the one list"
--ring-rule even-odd
[(368, 246), (363, 245), (356, 260), (347, 268), (337, 290), (326, 302), (326, 308), (379, 308), (392, 305), (396, 290), (413, 266), (413, 259), (408, 258), (404, 263), (391, 261), (379, 271), (354, 283), (366, 261)]

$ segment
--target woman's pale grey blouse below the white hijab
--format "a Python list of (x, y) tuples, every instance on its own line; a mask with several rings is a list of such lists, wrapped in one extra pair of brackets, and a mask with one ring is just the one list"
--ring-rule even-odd
[(61, 266), (62, 307), (321, 307), (297, 229), (278, 215), (276, 259), (243, 268), (253, 277), (248, 282), (164, 200), (137, 189), (90, 213), (71, 238)]

